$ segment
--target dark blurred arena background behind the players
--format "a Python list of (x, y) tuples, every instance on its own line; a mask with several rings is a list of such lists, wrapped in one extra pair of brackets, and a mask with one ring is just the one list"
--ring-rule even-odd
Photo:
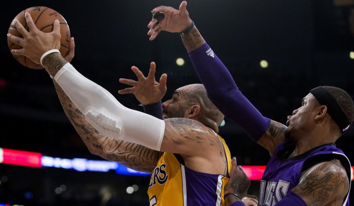
[[(155, 61), (156, 77), (167, 73), (168, 90), (163, 101), (171, 98), (178, 87), (200, 83), (178, 34), (161, 32), (154, 41), (149, 41), (147, 35), (150, 10), (159, 5), (178, 8), (180, 3), (181, 0), (3, 2), (0, 147), (51, 157), (101, 159), (90, 154), (76, 134), (47, 73), (20, 65), (10, 54), (6, 34), (19, 12), (32, 6), (47, 6), (61, 13), (75, 37), (75, 68), (123, 105), (142, 111), (133, 95), (118, 94), (119, 89), (125, 88), (119, 78), (135, 78), (132, 65), (146, 75), (149, 63)], [(320, 85), (340, 87), (354, 98), (354, 52), (350, 53), (354, 51), (354, 0), (190, 0), (187, 10), (242, 93), (264, 116), (285, 123), (309, 90)], [(178, 66), (177, 58), (183, 58), (185, 64)], [(262, 68), (261, 60), (266, 60), (268, 67)], [(219, 134), (239, 164), (267, 164), (268, 152), (236, 124), (226, 120)], [(353, 137), (352, 127), (336, 142), (352, 165)], [(0, 184), (0, 204), (148, 205), (148, 176), (0, 164), (1, 176), (8, 179)], [(56, 194), (55, 189), (62, 184), (66, 191)], [(126, 188), (133, 184), (139, 190), (127, 194)], [(258, 196), (258, 192), (259, 181), (252, 181), (249, 193)]]

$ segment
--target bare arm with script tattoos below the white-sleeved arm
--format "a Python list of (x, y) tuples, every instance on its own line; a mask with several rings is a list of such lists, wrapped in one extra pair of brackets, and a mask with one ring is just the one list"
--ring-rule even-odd
[(162, 152), (102, 136), (86, 121), (84, 114), (74, 105), (62, 88), (55, 81), (53, 82), (65, 114), (92, 154), (116, 161), (134, 170), (143, 172), (154, 170)]

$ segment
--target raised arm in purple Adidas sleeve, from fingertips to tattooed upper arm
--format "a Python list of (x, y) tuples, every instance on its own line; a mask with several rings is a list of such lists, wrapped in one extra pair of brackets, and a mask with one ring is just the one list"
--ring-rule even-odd
[(185, 31), (181, 33), (183, 44), (209, 98), (225, 117), (239, 124), (252, 140), (273, 154), (276, 146), (284, 141), (286, 126), (263, 117), (240, 92), (230, 72), (193, 26), (186, 6), (187, 2), (183, 1), (179, 10), (166, 6), (154, 8), (153, 12), (163, 12), (165, 19), (159, 24), (156, 19), (150, 21), (150, 40), (155, 39), (161, 30)]

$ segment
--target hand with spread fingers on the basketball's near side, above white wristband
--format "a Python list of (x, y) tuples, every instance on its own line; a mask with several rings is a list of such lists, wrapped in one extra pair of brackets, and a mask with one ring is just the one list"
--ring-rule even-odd
[(30, 58), (34, 63), (40, 64), (42, 54), (51, 49), (60, 48), (61, 35), (59, 21), (55, 20), (54, 28), (51, 33), (44, 33), (34, 25), (29, 13), (25, 13), (25, 18), (29, 31), (27, 31), (17, 19), (14, 21), (17, 30), (23, 35), (23, 38), (7, 34), (12, 42), (22, 46), (21, 49), (12, 49), (11, 53), (13, 55), (24, 55)]

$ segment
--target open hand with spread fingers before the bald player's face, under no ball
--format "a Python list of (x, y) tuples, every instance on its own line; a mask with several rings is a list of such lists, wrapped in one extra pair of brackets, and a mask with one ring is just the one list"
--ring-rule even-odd
[(138, 81), (120, 78), (119, 82), (128, 84), (130, 88), (119, 90), (119, 94), (134, 94), (136, 99), (143, 105), (154, 104), (164, 97), (167, 87), (167, 74), (162, 74), (160, 83), (155, 80), (156, 65), (155, 62), (150, 63), (150, 71), (148, 77), (144, 77), (143, 73), (136, 66), (132, 66), (132, 70), (138, 77)]

